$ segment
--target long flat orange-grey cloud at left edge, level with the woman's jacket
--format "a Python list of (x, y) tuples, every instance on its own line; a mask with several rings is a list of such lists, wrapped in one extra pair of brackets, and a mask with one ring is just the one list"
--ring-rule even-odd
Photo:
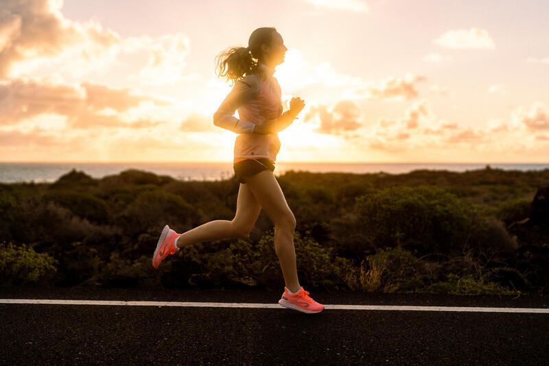
[(166, 105), (131, 89), (114, 89), (84, 82), (78, 86), (27, 78), (0, 84), (0, 125), (18, 124), (38, 115), (67, 116), (73, 128), (156, 126), (160, 122), (137, 119), (126, 122), (119, 113), (143, 103)]

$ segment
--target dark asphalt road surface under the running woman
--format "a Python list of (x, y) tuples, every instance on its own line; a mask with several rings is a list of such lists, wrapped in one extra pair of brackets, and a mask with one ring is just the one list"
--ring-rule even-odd
[[(322, 304), (549, 308), (539, 296), (323, 293)], [(276, 304), (282, 291), (0, 288), (1, 299)], [(2, 365), (541, 365), (549, 314), (0, 304)]]

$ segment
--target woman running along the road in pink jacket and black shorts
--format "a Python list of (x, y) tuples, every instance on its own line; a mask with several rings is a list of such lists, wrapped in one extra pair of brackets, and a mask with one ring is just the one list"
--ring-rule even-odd
[[(250, 35), (248, 47), (233, 47), (216, 56), (216, 74), (219, 68), (218, 76), (235, 81), (213, 114), (215, 126), (239, 134), (233, 159), (235, 179), (240, 183), (235, 218), (207, 222), (182, 234), (166, 225), (156, 245), (152, 266), (158, 267), (167, 255), (187, 245), (245, 238), (264, 208), (274, 223), (274, 250), (285, 282), (279, 304), (315, 313), (321, 312), (324, 306), (299, 285), (294, 248), (296, 219), (273, 174), (281, 146), (278, 133), (290, 126), (305, 106), (301, 98), (292, 98), (290, 110), (282, 113), (280, 85), (272, 74), (274, 67), (284, 62), (287, 50), (274, 27), (261, 27)], [(240, 118), (233, 116), (236, 110)]]

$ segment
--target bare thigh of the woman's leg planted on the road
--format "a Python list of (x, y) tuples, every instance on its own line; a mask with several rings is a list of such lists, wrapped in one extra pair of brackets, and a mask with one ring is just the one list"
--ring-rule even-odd
[(272, 170), (262, 170), (246, 177), (246, 185), (274, 225), (295, 228), (296, 219)]

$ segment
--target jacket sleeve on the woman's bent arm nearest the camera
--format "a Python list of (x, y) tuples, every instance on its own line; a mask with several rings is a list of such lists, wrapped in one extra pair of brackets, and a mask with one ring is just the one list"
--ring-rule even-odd
[(259, 93), (259, 82), (252, 75), (235, 82), (235, 86), (223, 100), (218, 111), (213, 113), (213, 124), (235, 133), (253, 133), (255, 124), (234, 117), (242, 104), (253, 100)]

